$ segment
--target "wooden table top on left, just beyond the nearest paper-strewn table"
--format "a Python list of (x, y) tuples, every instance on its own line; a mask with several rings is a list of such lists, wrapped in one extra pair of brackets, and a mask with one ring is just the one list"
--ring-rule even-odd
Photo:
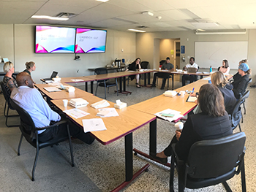
[(79, 88), (75, 88), (75, 92), (69, 93), (66, 90), (61, 90), (61, 91), (57, 91), (57, 92), (48, 92), (44, 88), (54, 87), (54, 86), (50, 86), (48, 84), (36, 84), (34, 86), (36, 88), (38, 88), (39, 91), (41, 91), (46, 96), (48, 96), (50, 99), (72, 99), (72, 98), (80, 98), (83, 96), (92, 95), (91, 93), (80, 90)]

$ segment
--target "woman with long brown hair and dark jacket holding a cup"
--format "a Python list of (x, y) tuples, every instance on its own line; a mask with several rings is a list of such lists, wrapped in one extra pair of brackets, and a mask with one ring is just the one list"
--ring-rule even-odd
[(231, 123), (225, 111), (224, 99), (217, 86), (212, 84), (202, 85), (197, 103), (202, 112), (189, 115), (182, 132), (176, 131), (170, 145), (161, 153), (151, 154), (152, 158), (167, 163), (171, 155), (171, 145), (176, 143), (175, 149), (178, 158), (186, 161), (190, 147), (198, 141), (218, 139), (233, 134)]

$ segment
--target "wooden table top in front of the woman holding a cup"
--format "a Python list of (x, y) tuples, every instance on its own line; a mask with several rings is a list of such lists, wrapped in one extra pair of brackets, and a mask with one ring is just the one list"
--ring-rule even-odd
[[(204, 84), (208, 83), (208, 80), (197, 80), (196, 82), (192, 82), (189, 85), (183, 86), (181, 88), (176, 89), (175, 91), (192, 91), (195, 88), (195, 92), (198, 92), (200, 87)], [(154, 115), (157, 112), (161, 112), (162, 110), (177, 110), (181, 112), (182, 115), (186, 115), (188, 112), (193, 110), (197, 104), (194, 102), (187, 102), (187, 97), (189, 94), (185, 94), (184, 97), (174, 96), (168, 97), (164, 95), (156, 96), (154, 98), (148, 99), (146, 101), (142, 101), (138, 104), (133, 104), (128, 108), (132, 108), (135, 110), (139, 110), (141, 112), (147, 112), (151, 115)]]

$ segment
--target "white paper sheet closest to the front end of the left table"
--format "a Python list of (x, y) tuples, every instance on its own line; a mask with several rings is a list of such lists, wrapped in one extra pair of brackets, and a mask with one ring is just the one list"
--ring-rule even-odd
[(83, 121), (83, 131), (85, 133), (87, 133), (89, 131), (107, 130), (107, 128), (101, 118), (83, 119), (82, 121)]

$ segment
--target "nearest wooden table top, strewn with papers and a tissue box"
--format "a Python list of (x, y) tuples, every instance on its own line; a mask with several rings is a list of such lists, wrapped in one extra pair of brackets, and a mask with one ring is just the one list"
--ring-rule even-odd
[[(91, 118), (99, 118), (96, 116), (99, 110), (94, 109), (91, 107), (91, 104), (94, 104), (97, 101), (102, 101), (102, 99), (98, 98), (97, 96), (86, 96), (83, 97), (89, 104), (86, 107), (79, 108), (80, 110), (89, 112), (90, 115), (87, 115), (83, 118), (72, 118), (70, 117), (75, 123), (83, 128), (83, 119), (91, 119)], [(70, 110), (74, 107), (71, 107), (69, 104), (67, 107), (64, 107), (63, 101), (61, 99), (53, 100), (53, 104), (56, 107), (59, 107), (60, 110)], [(110, 103), (109, 107), (113, 107), (113, 103)], [(118, 117), (109, 117), (109, 118), (102, 118), (105, 123), (107, 130), (104, 131), (91, 131), (91, 134), (101, 142), (103, 145), (108, 145), (110, 142), (116, 141), (117, 139), (124, 137), (125, 135), (135, 131), (136, 129), (140, 128), (141, 126), (150, 123), (152, 120), (155, 120), (156, 117), (154, 115), (150, 115), (144, 112), (140, 112), (138, 110), (133, 110), (131, 108), (125, 107), (121, 110), (116, 109), (119, 116)]]

